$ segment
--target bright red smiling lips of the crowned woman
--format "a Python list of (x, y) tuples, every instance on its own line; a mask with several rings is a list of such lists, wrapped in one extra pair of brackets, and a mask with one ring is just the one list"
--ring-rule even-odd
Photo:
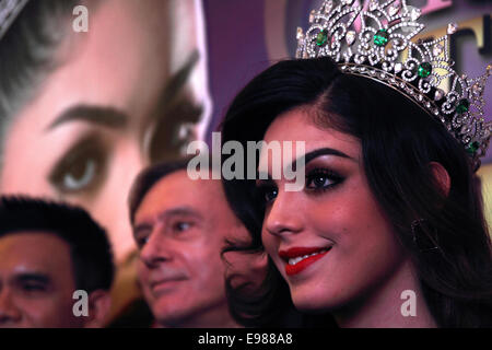
[(331, 247), (293, 247), (279, 250), (279, 256), (286, 262), (285, 273), (293, 276), (323, 258), (330, 249)]

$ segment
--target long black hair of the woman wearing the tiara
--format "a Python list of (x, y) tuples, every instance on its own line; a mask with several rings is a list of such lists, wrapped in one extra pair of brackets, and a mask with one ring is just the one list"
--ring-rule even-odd
[[(279, 115), (309, 106), (313, 121), (351, 135), (362, 145), (372, 194), (389, 218), (397, 238), (414, 264), (424, 299), (441, 327), (492, 326), (491, 241), (478, 178), (469, 156), (445, 127), (413, 102), (371, 79), (340, 72), (329, 58), (280, 61), (257, 75), (231, 104), (222, 140), (262, 140)], [(450, 177), (448, 194), (435, 179), (431, 162)], [(246, 164), (244, 164), (246, 166)], [(251, 233), (251, 244), (229, 250), (258, 250), (263, 212), (255, 180), (224, 180), (227, 199)], [(421, 242), (438, 249), (423, 250)], [(269, 280), (255, 293), (227, 283), (231, 308), (244, 325), (263, 325), (292, 307), (289, 289), (269, 261)]]

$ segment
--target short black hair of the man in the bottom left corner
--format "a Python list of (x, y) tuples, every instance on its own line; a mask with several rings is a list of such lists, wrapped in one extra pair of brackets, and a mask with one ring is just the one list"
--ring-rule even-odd
[(110, 289), (115, 266), (109, 240), (82, 208), (25, 196), (0, 197), (0, 238), (20, 232), (47, 232), (66, 242), (77, 289), (89, 293)]

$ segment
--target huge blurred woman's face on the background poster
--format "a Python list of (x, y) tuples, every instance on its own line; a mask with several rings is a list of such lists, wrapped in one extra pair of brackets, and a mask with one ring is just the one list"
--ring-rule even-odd
[[(14, 116), (0, 190), (78, 203), (108, 231), (117, 261), (133, 247), (126, 202), (144, 166), (177, 156), (208, 119), (195, 0), (87, 1), (35, 98)], [(75, 16), (73, 16), (75, 19)]]

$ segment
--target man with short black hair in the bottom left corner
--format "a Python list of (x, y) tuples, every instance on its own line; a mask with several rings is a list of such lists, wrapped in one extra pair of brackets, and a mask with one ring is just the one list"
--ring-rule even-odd
[(113, 277), (106, 233), (83, 209), (0, 198), (0, 327), (102, 326)]

